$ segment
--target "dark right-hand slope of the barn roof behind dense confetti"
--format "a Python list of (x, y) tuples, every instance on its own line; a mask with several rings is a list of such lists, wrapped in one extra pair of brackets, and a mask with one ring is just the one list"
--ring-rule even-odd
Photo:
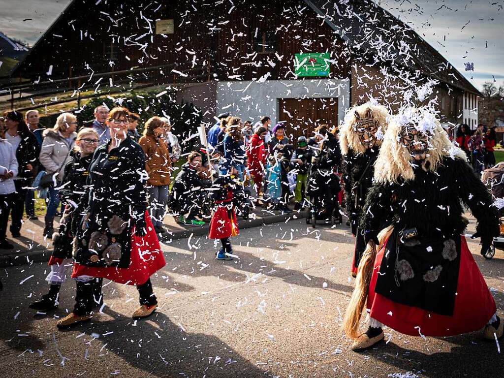
[(354, 53), (420, 71), (481, 96), (481, 93), (410, 26), (371, 0), (304, 0)]

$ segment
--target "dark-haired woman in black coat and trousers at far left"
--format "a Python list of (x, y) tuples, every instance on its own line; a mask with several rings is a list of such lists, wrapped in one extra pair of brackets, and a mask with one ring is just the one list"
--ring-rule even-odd
[(18, 174), (13, 177), (16, 193), (12, 196), (10, 231), (13, 237), (20, 237), (26, 195), (37, 172), (40, 148), (20, 112), (13, 110), (5, 113), (5, 129), (5, 139), (12, 145), (19, 165)]

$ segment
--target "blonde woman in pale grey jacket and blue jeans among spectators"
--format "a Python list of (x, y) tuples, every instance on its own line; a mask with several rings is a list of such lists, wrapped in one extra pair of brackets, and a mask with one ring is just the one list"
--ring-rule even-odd
[(52, 237), (54, 215), (59, 205), (58, 187), (63, 179), (65, 165), (72, 159), (70, 153), (77, 138), (76, 130), (77, 117), (72, 113), (62, 113), (56, 118), (54, 128), (44, 131), (40, 163), (53, 181), (48, 190), (49, 203), (44, 219), (44, 236), (47, 237)]

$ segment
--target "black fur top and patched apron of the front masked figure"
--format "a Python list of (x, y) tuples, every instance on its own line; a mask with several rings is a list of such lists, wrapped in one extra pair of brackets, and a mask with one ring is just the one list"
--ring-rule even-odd
[[(467, 162), (446, 157), (436, 172), (414, 169), (415, 179), (371, 187), (360, 227), (366, 240), (393, 224), (375, 292), (394, 302), (450, 316), (457, 292), (460, 234), (466, 228), (461, 202), (478, 224), (481, 240), (498, 234), (497, 213), (483, 183)], [(406, 237), (416, 229), (417, 236)]]

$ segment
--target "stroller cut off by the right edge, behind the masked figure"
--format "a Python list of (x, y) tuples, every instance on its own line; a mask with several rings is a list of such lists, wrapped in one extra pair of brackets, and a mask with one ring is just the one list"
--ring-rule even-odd
[[(504, 201), (504, 162), (485, 169), (481, 175), (481, 181), (488, 188), (495, 201)], [(499, 216), (499, 235), (493, 238), (493, 245), (483, 255), (488, 260), (492, 259), (495, 255), (495, 247), (504, 250), (504, 208), (500, 208), (497, 211)]]

